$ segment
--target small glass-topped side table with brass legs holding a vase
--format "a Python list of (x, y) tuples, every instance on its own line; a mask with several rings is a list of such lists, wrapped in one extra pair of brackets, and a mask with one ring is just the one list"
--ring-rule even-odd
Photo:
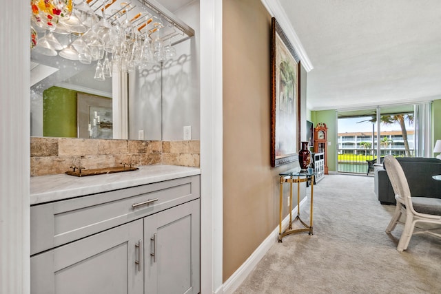
[[(282, 242), (285, 235), (301, 232), (309, 232), (313, 235), (312, 229), (312, 210), (313, 210), (313, 196), (314, 196), (314, 173), (312, 169), (307, 171), (301, 170), (300, 167), (290, 169), (279, 174), (280, 176), (280, 195), (279, 195), (279, 222), (278, 222), (278, 242)], [(307, 182), (311, 180), (311, 216), (309, 217), (309, 224), (300, 219), (300, 182)], [(289, 225), (285, 231), (282, 231), (282, 211), (283, 211), (283, 184), (289, 182)], [(297, 183), (297, 216), (292, 220), (292, 184)], [(292, 223), (298, 220), (304, 227), (303, 229), (293, 229)]]

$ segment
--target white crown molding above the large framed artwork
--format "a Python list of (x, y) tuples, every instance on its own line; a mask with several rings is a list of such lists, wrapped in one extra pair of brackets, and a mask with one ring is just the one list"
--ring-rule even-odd
[(278, 24), (283, 29), (283, 32), (285, 32), (288, 40), (291, 42), (294, 50), (296, 50), (298, 56), (300, 57), (303, 68), (305, 68), (307, 72), (310, 72), (312, 69), (314, 69), (314, 66), (309, 60), (308, 54), (306, 53), (305, 48), (303, 48), (302, 42), (300, 42), (300, 39), (298, 39), (296, 31), (292, 27), (291, 22), (289, 22), (287, 14), (280, 5), (280, 2), (278, 0), (260, 1), (263, 3), (263, 6), (265, 6), (269, 14), (271, 14), (271, 17), (276, 18)]

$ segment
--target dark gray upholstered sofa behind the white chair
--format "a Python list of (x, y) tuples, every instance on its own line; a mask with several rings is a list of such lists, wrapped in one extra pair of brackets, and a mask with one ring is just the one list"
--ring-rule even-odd
[[(398, 162), (406, 175), (412, 196), (441, 198), (441, 181), (432, 176), (441, 175), (441, 160), (437, 158), (398, 157)], [(396, 204), (395, 193), (387, 172), (375, 167), (374, 189), (381, 204)]]

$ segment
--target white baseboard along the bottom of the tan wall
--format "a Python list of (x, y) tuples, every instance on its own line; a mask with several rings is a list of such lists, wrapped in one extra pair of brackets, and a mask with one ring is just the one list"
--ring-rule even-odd
[[(300, 208), (307, 201), (307, 197), (300, 201)], [(297, 205), (291, 211), (291, 217), (296, 218), (297, 216)], [(282, 221), (282, 228), (285, 230), (289, 224), (289, 215)], [(260, 260), (265, 256), (265, 253), (271, 248), (271, 246), (278, 242), (278, 226), (274, 231), (272, 231), (265, 240), (257, 247), (257, 249), (252, 253), (252, 255), (245, 260), (245, 262), (228, 278), (225, 283), (223, 283), (222, 288), (217, 289), (215, 294), (230, 294), (236, 291), (238, 286), (243, 283), (245, 278), (251, 273), (260, 262)]]

